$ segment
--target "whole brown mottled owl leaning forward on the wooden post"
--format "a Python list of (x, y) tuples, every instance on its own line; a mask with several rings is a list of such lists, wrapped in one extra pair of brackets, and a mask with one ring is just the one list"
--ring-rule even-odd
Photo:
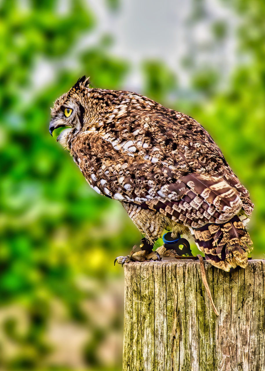
[[(83, 76), (52, 108), (50, 134), (99, 194), (118, 200), (145, 250), (117, 261), (158, 259), (165, 231), (192, 234), (212, 265), (246, 267), (254, 205), (208, 132), (193, 118), (137, 93), (94, 89)], [(122, 259), (123, 258), (123, 259)]]

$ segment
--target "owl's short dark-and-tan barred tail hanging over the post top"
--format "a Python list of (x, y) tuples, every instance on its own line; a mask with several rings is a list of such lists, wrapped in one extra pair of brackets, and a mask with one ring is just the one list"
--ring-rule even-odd
[(206, 224), (193, 229), (193, 233), (205, 259), (215, 267), (229, 272), (238, 265), (247, 266), (253, 243), (237, 215), (224, 224)]

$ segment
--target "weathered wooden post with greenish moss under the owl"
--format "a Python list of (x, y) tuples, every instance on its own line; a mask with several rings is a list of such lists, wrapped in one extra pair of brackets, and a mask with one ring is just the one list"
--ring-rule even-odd
[(128, 263), (123, 371), (264, 371), (265, 260), (227, 273), (199, 261)]

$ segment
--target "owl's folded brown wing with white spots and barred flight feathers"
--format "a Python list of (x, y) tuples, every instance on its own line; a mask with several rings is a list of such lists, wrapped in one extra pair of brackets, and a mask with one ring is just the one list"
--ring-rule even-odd
[(189, 116), (135, 111), (78, 135), (77, 142), (73, 152), (78, 148), (79, 167), (92, 187), (108, 197), (157, 210), (193, 228), (223, 223), (242, 207), (247, 214), (252, 211), (248, 192), (222, 152)]

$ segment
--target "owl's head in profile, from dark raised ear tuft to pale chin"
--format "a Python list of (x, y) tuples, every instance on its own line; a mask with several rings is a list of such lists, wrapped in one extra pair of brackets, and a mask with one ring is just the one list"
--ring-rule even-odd
[(53, 108), (51, 108), (52, 118), (49, 131), (53, 135), (55, 129), (65, 128), (56, 139), (64, 148), (67, 147), (70, 138), (83, 127), (83, 121), (85, 119), (84, 96), (88, 91), (89, 78), (83, 76), (74, 84), (69, 92), (56, 99)]

